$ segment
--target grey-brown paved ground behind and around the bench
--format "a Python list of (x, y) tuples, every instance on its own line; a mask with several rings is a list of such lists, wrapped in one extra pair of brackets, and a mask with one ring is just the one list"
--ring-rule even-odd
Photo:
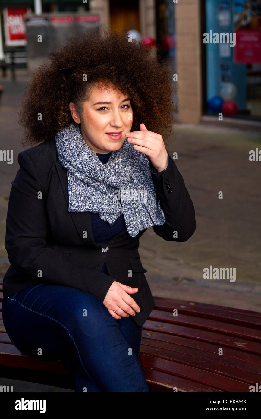
[[(0, 275), (8, 266), (4, 235), (10, 182), (23, 150), (16, 120), (25, 80), (24, 71), (15, 84), (0, 77), (5, 87), (0, 149), (14, 155), (12, 165), (0, 162)], [(174, 131), (170, 151), (178, 153), (176, 165), (194, 203), (197, 228), (184, 243), (164, 241), (152, 228), (142, 235), (139, 251), (152, 294), (261, 311), (261, 163), (248, 159), (250, 150), (261, 149), (261, 134), (223, 128), (222, 122), (220, 127), (179, 124)], [(235, 282), (203, 279), (210, 265), (235, 268)], [(16, 389), (65, 391), (23, 382), (16, 382)]]

